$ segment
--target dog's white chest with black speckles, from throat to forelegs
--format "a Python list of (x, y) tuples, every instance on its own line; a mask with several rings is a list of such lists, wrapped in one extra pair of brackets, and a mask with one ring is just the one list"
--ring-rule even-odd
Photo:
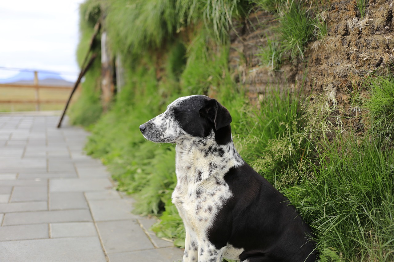
[[(212, 225), (217, 212), (232, 194), (223, 177), (230, 167), (218, 150), (177, 146), (177, 186), (173, 203), (193, 231)], [(215, 151), (212, 153), (212, 151)], [(185, 221), (186, 220), (186, 221)]]

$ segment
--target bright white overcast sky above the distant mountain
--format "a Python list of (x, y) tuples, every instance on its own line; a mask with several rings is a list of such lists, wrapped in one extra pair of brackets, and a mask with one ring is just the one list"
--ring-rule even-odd
[(0, 2), (0, 79), (16, 70), (60, 72), (69, 81), (79, 74), (76, 46), (78, 7), (84, 0), (12, 0)]

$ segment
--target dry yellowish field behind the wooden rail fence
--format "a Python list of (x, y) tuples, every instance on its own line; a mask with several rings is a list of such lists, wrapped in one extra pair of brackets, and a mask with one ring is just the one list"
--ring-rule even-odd
[[(61, 110), (65, 106), (71, 88), (40, 86), (38, 90), (39, 110)], [(78, 90), (72, 101), (78, 98)], [(0, 112), (35, 111), (36, 89), (32, 87), (0, 86)]]

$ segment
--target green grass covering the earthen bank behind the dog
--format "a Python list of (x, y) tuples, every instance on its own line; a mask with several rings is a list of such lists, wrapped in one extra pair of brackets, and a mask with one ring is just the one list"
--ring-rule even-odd
[[(105, 26), (112, 32), (112, 52), (121, 54), (125, 86), (110, 111), (102, 114), (97, 62), (71, 111), (73, 123), (89, 125), (92, 132), (87, 153), (108, 165), (119, 190), (133, 194), (135, 212), (158, 216), (161, 221), (153, 227), (158, 236), (184, 245), (182, 221), (171, 203), (175, 147), (146, 141), (138, 127), (179, 96), (207, 94), (229, 109), (234, 142), (242, 157), (283, 192), (311, 225), (321, 261), (394, 260), (393, 77), (370, 76), (364, 82), (364, 95), (352, 94), (362, 124), (371, 127), (365, 133), (338, 128), (341, 118), (333, 116), (338, 110), (335, 96), (304, 93), (303, 79), (296, 83), (301, 88), (294, 91), (293, 83), (286, 89), (267, 85), (252, 103), (229, 69), (231, 23), (225, 18), (242, 17), (250, 3), (149, 5), (154, 2), (136, 9), (137, 2), (123, 0), (104, 2), (109, 5), (85, 2), (81, 29), (86, 34), (98, 14), (107, 12)], [(263, 4), (278, 11), (272, 1)], [(148, 7), (154, 10), (140, 12)], [(170, 8), (175, 13), (168, 13)], [(280, 41), (268, 50), (269, 55), (262, 55), (273, 68), (283, 59), (302, 59), (307, 42), (316, 37), (310, 24), (324, 20), (300, 5), (286, 7), (283, 2), (280, 8), (287, 12), (281, 19), (288, 21), (281, 24), (294, 26), (299, 24), (294, 19), (302, 20), (301, 31), (306, 34), (297, 34), (299, 41), (290, 43), (286, 36), (292, 29), (278, 31)], [(299, 15), (301, 9), (303, 15)], [(146, 30), (136, 32), (138, 28), (127, 26), (135, 23)], [(82, 37), (81, 42), (84, 39), (88, 38)], [(275, 58), (277, 54), (280, 59)]]

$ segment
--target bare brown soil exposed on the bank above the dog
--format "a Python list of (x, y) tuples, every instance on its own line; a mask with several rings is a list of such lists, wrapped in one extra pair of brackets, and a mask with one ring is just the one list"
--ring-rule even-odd
[[(251, 13), (247, 21), (234, 21), (231, 37), (230, 66), (237, 70), (236, 79), (243, 83), (255, 102), (267, 87), (301, 89), (305, 94), (323, 96), (337, 102), (332, 116), (342, 116), (342, 131), (352, 127), (362, 132), (359, 115), (350, 99), (353, 93), (365, 95), (363, 82), (371, 74), (387, 73), (394, 63), (394, 1), (370, 0), (366, 16), (360, 18), (356, 0), (332, 0), (326, 9), (327, 37), (310, 42), (305, 58), (287, 61), (279, 70), (262, 65), (258, 54), (272, 39), (279, 25), (275, 17), (264, 11)], [(329, 101), (333, 105), (333, 100)], [(352, 118), (348, 118), (352, 116)], [(349, 120), (351, 119), (351, 120)], [(330, 119), (338, 124), (334, 118)]]

